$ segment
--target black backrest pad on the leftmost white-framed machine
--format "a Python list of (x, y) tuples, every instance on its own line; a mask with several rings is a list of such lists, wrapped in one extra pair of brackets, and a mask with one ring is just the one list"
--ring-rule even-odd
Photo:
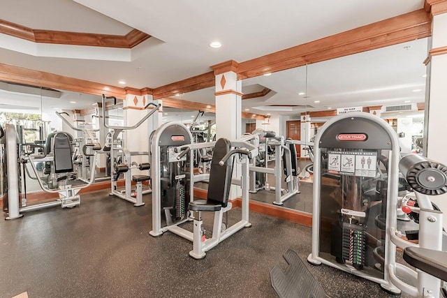
[(70, 138), (66, 133), (56, 133), (53, 141), (54, 172), (73, 172)]

